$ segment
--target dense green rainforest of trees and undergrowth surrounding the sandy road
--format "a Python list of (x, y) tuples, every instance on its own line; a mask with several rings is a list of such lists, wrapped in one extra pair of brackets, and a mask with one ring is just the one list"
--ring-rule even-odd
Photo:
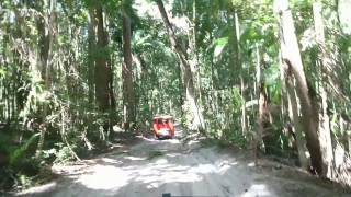
[(172, 115), (351, 185), (350, 0), (1, 0), (0, 187)]

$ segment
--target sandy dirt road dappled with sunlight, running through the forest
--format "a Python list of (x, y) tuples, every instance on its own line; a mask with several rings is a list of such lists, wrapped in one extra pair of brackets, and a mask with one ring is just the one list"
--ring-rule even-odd
[(60, 178), (18, 195), (351, 196), (320, 186), (314, 177), (297, 176), (297, 171), (286, 167), (254, 166), (249, 153), (220, 150), (199, 141), (140, 138), (134, 146), (87, 160), (83, 165), (57, 167)]

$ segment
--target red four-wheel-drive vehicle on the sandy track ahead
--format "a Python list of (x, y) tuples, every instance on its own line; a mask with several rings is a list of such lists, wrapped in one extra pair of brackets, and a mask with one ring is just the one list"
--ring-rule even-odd
[(172, 116), (154, 116), (154, 134), (158, 139), (171, 139), (174, 137), (174, 126)]

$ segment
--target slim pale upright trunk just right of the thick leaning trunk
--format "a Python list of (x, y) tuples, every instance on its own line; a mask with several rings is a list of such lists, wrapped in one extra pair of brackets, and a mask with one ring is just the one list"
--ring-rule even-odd
[(324, 76), (324, 67), (328, 67), (330, 61), (328, 60), (326, 54), (326, 44), (325, 44), (325, 33), (324, 33), (324, 23), (321, 16), (321, 3), (315, 2), (313, 4), (314, 10), (314, 21), (315, 21), (315, 33), (316, 40), (319, 45), (319, 57), (318, 57), (318, 70), (319, 70), (319, 92), (321, 96), (321, 108), (319, 113), (319, 142), (321, 149), (321, 158), (322, 158), (322, 176), (332, 178), (333, 176), (333, 152), (332, 152), (332, 143), (330, 136), (330, 125), (329, 125), (329, 116), (327, 114), (328, 101), (327, 101), (327, 91), (325, 90), (326, 78)]

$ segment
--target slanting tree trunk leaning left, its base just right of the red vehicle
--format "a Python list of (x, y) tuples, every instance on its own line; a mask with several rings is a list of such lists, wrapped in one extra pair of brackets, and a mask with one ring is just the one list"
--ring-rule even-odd
[(185, 88), (185, 102), (189, 105), (189, 111), (192, 119), (192, 127), (193, 129), (203, 131), (205, 129), (205, 124), (204, 124), (202, 112), (196, 101), (193, 73), (191, 71), (190, 63), (186, 59), (186, 54), (181, 47), (180, 43), (177, 40), (174, 31), (168, 19), (162, 0), (157, 0), (156, 2), (160, 11), (160, 14), (162, 16), (167, 33), (169, 35), (171, 46), (180, 61), (180, 67), (182, 72), (182, 82)]

